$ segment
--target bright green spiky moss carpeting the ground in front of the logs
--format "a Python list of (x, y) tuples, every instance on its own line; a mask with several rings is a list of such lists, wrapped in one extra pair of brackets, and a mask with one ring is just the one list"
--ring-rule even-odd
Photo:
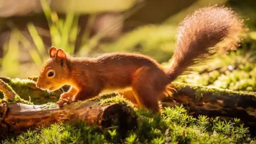
[(182, 107), (166, 107), (163, 114), (137, 110), (138, 127), (121, 139), (115, 125), (101, 130), (83, 122), (52, 124), (41, 130), (27, 131), (2, 143), (250, 143), (249, 129), (237, 118), (188, 116)]

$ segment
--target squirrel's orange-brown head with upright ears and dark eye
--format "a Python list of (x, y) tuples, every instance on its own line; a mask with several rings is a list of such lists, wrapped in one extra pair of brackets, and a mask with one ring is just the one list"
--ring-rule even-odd
[(45, 61), (40, 70), (36, 87), (51, 92), (67, 84), (70, 72), (67, 54), (63, 50), (51, 47), (49, 55), (50, 58)]

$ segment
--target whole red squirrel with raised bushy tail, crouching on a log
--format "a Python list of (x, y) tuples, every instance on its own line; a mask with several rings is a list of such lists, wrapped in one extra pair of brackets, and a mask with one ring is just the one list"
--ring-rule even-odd
[(129, 100), (138, 107), (159, 112), (158, 96), (179, 75), (190, 71), (218, 51), (220, 42), (237, 44), (243, 20), (227, 7), (210, 6), (195, 11), (180, 23), (177, 44), (169, 69), (154, 59), (135, 53), (107, 53), (94, 58), (71, 57), (62, 49), (51, 47), (36, 86), (55, 91), (70, 85), (57, 102), (75, 102), (98, 96), (105, 90), (130, 87)]

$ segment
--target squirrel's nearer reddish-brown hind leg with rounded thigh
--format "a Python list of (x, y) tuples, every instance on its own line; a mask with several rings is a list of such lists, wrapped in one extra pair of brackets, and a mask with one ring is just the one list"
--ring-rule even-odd
[(165, 74), (159, 69), (141, 67), (135, 71), (131, 86), (139, 107), (158, 113), (158, 95), (165, 90), (165, 81)]

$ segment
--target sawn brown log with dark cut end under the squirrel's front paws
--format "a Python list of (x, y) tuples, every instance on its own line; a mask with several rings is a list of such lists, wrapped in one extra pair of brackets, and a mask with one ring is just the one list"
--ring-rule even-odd
[(76, 121), (98, 125), (102, 129), (115, 124), (119, 126), (121, 132), (131, 130), (137, 125), (137, 118), (131, 107), (118, 103), (102, 106), (98, 102), (76, 102), (64, 105), (62, 108), (55, 103), (47, 105), (12, 103), (6, 105), (2, 102), (0, 105), (0, 135), (2, 139), (8, 135), (16, 135), (49, 124)]

